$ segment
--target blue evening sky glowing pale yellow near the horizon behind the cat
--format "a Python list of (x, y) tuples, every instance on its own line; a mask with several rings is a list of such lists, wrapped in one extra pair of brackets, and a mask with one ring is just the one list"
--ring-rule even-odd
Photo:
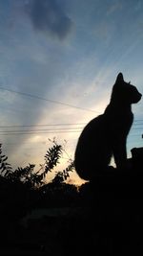
[[(0, 0), (0, 143), (13, 169), (39, 168), (53, 137), (66, 141), (58, 171), (67, 166), (119, 72), (143, 93), (142, 41), (141, 0)], [(143, 146), (142, 109), (133, 105), (128, 157)]]

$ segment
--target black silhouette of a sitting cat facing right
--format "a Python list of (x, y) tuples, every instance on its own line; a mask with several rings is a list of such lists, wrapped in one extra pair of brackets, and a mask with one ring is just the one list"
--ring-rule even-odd
[(74, 163), (81, 178), (92, 180), (96, 175), (104, 175), (112, 155), (118, 169), (126, 167), (126, 140), (133, 124), (131, 105), (138, 103), (141, 96), (119, 73), (105, 112), (92, 119), (79, 136)]

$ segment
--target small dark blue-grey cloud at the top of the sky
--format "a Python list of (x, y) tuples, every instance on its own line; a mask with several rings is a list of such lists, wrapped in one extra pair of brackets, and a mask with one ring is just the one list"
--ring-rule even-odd
[(71, 18), (56, 0), (31, 0), (26, 3), (26, 12), (31, 17), (33, 28), (64, 39), (72, 29)]

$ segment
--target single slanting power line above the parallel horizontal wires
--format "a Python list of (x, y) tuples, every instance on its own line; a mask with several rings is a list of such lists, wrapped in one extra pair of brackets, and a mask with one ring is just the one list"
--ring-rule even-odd
[(94, 112), (94, 113), (99, 113), (99, 112), (94, 111), (94, 110), (89, 109), (89, 108), (85, 108), (85, 107), (81, 107), (81, 106), (77, 106), (77, 105), (70, 105), (70, 104), (66, 104), (66, 103), (46, 99), (46, 98), (43, 98), (43, 97), (40, 97), (40, 96), (32, 95), (32, 94), (29, 94), (29, 93), (11, 90), (11, 89), (4, 88), (4, 87), (0, 87), (0, 90), (9, 91), (9, 92), (12, 92), (12, 93), (16, 93), (16, 94), (20, 94), (20, 95), (23, 95), (23, 96), (31, 97), (31, 98), (41, 100), (41, 101), (51, 102), (52, 104), (67, 105), (67, 106), (70, 106), (70, 107), (74, 107), (74, 108), (78, 108), (78, 109), (82, 109), (82, 110), (86, 110), (86, 111), (90, 111), (90, 112)]

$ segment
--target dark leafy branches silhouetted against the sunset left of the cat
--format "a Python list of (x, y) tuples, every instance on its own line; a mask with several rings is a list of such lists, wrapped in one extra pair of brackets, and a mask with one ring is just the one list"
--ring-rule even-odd
[[(18, 167), (16, 170), (12, 171), (10, 164), (7, 162), (8, 156), (3, 154), (2, 144), (0, 144), (0, 175), (3, 175), (11, 182), (19, 181), (29, 188), (36, 188), (44, 185), (46, 176), (60, 163), (62, 153), (65, 151), (61, 145), (56, 143), (55, 139), (51, 142), (53, 145), (46, 152), (44, 156), (45, 162), (40, 165), (40, 169), (37, 172), (34, 172), (34, 164), (29, 164), (24, 168)], [(74, 164), (72, 159), (69, 159), (69, 162), (70, 163), (66, 169), (55, 173), (55, 176), (51, 181), (54, 185), (62, 183), (70, 177), (69, 173), (74, 170)]]

